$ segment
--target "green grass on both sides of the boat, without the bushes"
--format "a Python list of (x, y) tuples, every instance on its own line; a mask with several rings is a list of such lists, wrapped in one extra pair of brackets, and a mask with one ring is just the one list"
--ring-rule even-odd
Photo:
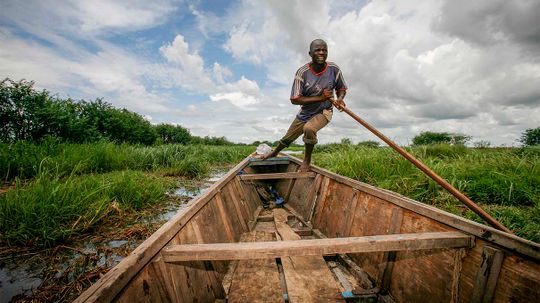
[[(114, 217), (163, 201), (166, 176), (199, 178), (239, 162), (254, 147), (94, 144), (0, 145), (0, 233), (9, 244), (50, 246)], [(410, 149), (517, 235), (540, 242), (540, 149)], [(330, 144), (314, 163), (482, 222), (389, 148)]]

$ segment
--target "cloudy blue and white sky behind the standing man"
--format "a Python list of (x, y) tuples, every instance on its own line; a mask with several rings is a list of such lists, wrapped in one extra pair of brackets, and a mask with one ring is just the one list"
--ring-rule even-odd
[[(540, 126), (538, 0), (0, 4), (1, 79), (103, 98), (197, 136), (280, 139), (317, 38), (343, 72), (347, 106), (399, 144), (437, 131), (516, 146)], [(377, 140), (337, 111), (318, 137)]]

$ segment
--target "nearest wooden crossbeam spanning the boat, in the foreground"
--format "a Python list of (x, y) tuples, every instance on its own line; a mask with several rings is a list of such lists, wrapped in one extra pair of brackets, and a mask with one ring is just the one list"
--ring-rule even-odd
[(172, 245), (164, 249), (165, 262), (248, 260), (286, 256), (472, 247), (474, 237), (461, 232), (428, 232), (366, 237), (326, 238), (248, 243)]

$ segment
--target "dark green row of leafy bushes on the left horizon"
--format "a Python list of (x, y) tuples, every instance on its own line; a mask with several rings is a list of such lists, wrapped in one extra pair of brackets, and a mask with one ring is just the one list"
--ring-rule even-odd
[(0, 120), (0, 142), (4, 143), (53, 137), (70, 143), (233, 144), (225, 137), (193, 136), (180, 125), (152, 125), (141, 115), (102, 99), (61, 99), (36, 90), (33, 81), (9, 78), (0, 82)]

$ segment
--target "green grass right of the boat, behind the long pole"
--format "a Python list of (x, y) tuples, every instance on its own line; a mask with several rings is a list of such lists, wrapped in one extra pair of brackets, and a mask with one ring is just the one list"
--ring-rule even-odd
[[(540, 242), (540, 157), (535, 150), (430, 146), (411, 149), (435, 172), (517, 235)], [(322, 148), (315, 163), (482, 222), (438, 184), (389, 148)]]

